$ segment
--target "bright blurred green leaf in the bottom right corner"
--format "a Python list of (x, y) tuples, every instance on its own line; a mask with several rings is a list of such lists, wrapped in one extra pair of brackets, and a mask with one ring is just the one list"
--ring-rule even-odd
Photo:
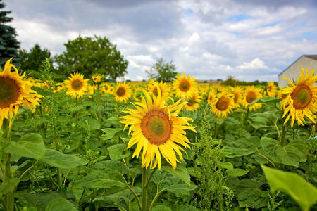
[(273, 191), (282, 191), (290, 195), (302, 210), (309, 210), (317, 202), (317, 189), (302, 177), (290, 172), (282, 172), (261, 165), (268, 184)]

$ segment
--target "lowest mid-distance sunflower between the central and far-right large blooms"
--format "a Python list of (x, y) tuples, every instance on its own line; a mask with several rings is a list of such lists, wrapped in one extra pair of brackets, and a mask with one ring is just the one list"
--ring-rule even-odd
[(211, 112), (218, 117), (225, 118), (232, 112), (233, 108), (235, 108), (235, 103), (233, 102), (232, 95), (223, 91), (220, 92), (215, 101), (213, 101), (211, 105)]

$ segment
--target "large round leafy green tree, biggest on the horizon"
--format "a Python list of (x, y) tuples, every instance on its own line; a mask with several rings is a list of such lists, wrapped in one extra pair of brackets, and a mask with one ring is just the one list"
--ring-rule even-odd
[(127, 72), (128, 61), (106, 37), (79, 36), (64, 45), (66, 51), (55, 58), (60, 74), (68, 76), (80, 72), (90, 77), (99, 73), (108, 79), (116, 79)]

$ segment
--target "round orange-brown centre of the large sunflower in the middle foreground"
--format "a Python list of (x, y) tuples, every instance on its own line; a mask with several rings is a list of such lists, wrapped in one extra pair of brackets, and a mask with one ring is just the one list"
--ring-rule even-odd
[(143, 117), (141, 129), (150, 143), (161, 145), (170, 138), (172, 122), (170, 122), (168, 115), (163, 111), (151, 110)]

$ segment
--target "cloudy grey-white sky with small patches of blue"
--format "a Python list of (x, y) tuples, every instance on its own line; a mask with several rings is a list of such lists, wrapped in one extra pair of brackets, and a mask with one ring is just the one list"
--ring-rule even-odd
[(277, 81), (303, 54), (317, 54), (317, 1), (4, 0), (23, 49), (52, 54), (64, 43), (108, 37), (129, 61), (125, 79), (146, 79), (157, 58), (197, 79)]

